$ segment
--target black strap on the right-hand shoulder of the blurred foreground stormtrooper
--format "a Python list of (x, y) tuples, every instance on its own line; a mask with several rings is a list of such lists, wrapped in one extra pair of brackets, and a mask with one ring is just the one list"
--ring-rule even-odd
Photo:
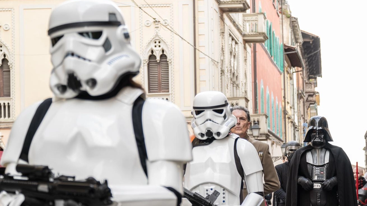
[(146, 170), (146, 160), (148, 159), (148, 155), (146, 154), (142, 121), (144, 102), (145, 100), (141, 97), (138, 97), (138, 99), (135, 100), (134, 106), (132, 106), (132, 126), (134, 127), (134, 134), (138, 146), (140, 163), (146, 176), (148, 176), (148, 172)]

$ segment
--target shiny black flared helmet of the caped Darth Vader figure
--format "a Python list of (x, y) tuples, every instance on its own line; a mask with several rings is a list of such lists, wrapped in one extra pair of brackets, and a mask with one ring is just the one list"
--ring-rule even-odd
[(315, 148), (323, 147), (327, 141), (333, 141), (325, 117), (314, 116), (310, 118), (304, 142), (311, 142)]

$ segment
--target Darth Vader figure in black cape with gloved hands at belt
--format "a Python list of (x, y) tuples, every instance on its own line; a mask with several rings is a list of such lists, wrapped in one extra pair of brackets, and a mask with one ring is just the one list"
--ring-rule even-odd
[(286, 206), (357, 206), (349, 158), (329, 141), (326, 118), (310, 118), (304, 142), (311, 144), (295, 151), (289, 165)]

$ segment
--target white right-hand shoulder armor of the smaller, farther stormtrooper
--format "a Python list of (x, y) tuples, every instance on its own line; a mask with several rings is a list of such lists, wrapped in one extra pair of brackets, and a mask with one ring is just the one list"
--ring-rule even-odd
[(237, 154), (240, 157), (241, 165), (246, 175), (259, 172), (262, 165), (255, 147), (245, 139), (237, 140)]

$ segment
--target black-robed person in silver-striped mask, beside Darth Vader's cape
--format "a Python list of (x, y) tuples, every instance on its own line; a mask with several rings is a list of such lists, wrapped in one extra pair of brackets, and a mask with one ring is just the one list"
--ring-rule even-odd
[(273, 205), (275, 206), (284, 206), (286, 202), (289, 163), (293, 157), (294, 152), (299, 148), (301, 148), (301, 144), (299, 144), (298, 141), (288, 141), (286, 144), (286, 152), (285, 152), (285, 155), (288, 160), (283, 164), (275, 166), (275, 170), (278, 174), (280, 183), (280, 189), (274, 192)]

